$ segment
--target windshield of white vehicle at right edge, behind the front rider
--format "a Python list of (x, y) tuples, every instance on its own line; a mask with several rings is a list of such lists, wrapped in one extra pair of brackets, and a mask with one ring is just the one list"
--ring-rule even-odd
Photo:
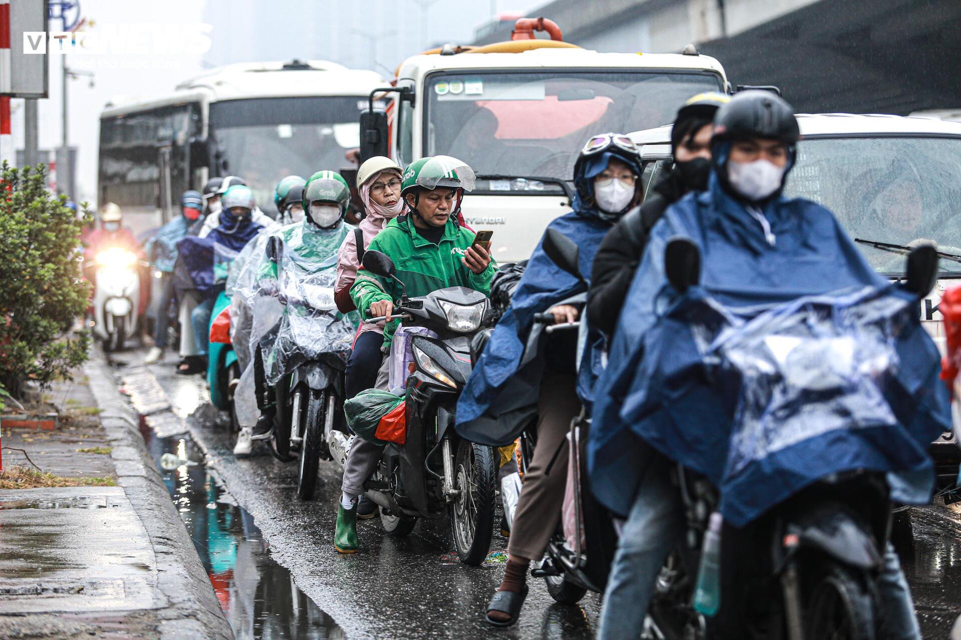
[[(798, 145), (784, 193), (824, 204), (851, 238), (961, 253), (961, 138), (814, 138)], [(879, 273), (904, 272), (897, 250), (858, 243)], [(943, 273), (961, 263), (941, 260)]]

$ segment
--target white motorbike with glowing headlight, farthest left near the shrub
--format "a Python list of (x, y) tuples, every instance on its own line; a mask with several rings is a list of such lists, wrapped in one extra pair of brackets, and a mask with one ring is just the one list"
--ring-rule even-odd
[(93, 335), (105, 351), (123, 348), (136, 335), (139, 316), (140, 279), (136, 254), (121, 247), (102, 249), (85, 268), (94, 270)]

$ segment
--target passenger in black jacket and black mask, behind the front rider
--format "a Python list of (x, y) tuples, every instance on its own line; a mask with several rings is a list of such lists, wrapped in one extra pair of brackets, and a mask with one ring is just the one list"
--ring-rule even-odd
[(689, 191), (703, 191), (711, 173), (712, 121), (727, 103), (723, 93), (699, 93), (684, 103), (671, 129), (675, 165), (660, 172), (651, 195), (614, 225), (594, 258), (587, 318), (610, 338), (628, 295), (630, 281), (647, 247), (648, 233), (664, 210)]

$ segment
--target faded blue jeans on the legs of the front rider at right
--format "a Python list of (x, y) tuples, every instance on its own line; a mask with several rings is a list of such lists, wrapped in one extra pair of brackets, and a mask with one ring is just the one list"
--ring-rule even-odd
[[(684, 533), (683, 513), (678, 488), (671, 483), (671, 463), (657, 456), (638, 488), (618, 540), (604, 590), (599, 640), (636, 638), (641, 634), (654, 581), (671, 547)], [(877, 613), (885, 618), (888, 637), (921, 640), (911, 591), (890, 542), (876, 585), (881, 599)]]

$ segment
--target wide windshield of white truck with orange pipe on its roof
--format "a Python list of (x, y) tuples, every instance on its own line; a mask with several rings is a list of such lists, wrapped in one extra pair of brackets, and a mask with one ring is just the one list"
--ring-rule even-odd
[(670, 123), (686, 99), (721, 89), (716, 74), (679, 71), (433, 75), (424, 154), (453, 155), (479, 176), (522, 178), (479, 180), (479, 191), (540, 190), (523, 178), (572, 179), (591, 135)]

